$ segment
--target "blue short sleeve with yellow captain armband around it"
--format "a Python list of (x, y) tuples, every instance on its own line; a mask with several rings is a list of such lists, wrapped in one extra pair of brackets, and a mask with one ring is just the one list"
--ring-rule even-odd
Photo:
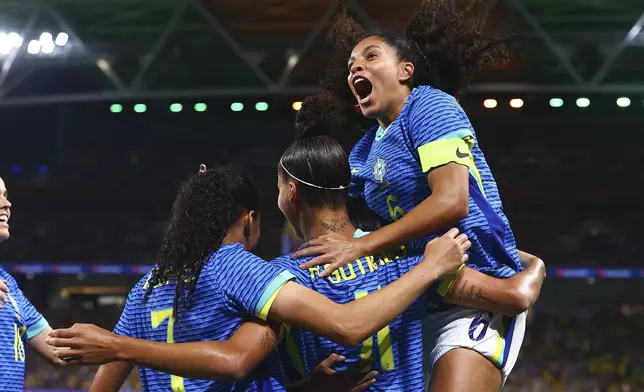
[(469, 167), (474, 134), (467, 115), (451, 95), (421, 89), (414, 92), (403, 122), (423, 172), (452, 162)]

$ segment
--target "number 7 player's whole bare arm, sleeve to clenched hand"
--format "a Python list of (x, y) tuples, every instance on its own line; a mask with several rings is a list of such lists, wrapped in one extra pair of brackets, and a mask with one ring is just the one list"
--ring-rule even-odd
[(451, 229), (430, 242), (423, 261), (376, 293), (339, 305), (296, 283), (286, 283), (270, 308), (268, 317), (286, 325), (307, 329), (336, 343), (355, 346), (372, 336), (409, 307), (440, 276), (467, 260), (471, 243)]

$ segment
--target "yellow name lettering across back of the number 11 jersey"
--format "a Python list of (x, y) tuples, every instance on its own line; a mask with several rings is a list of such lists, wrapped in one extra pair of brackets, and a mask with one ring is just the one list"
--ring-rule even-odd
[[(398, 248), (387, 252), (377, 253), (373, 256), (366, 256), (361, 259), (352, 261), (342, 268), (338, 268), (327, 279), (333, 284), (347, 282), (357, 278), (358, 275), (366, 275), (370, 272), (377, 271), (378, 268), (383, 265), (389, 264), (398, 259), (405, 258), (407, 257), (407, 253), (407, 248), (404, 245), (400, 245)], [(309, 268), (311, 279), (318, 278), (320, 276), (320, 273), (328, 267), (329, 264), (326, 264), (323, 268), (321, 268), (320, 266)]]

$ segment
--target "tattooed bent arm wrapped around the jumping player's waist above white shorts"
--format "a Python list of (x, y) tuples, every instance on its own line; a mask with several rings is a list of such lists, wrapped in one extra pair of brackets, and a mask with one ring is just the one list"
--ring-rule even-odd
[(519, 251), (523, 272), (498, 279), (471, 268), (463, 268), (447, 291), (445, 302), (517, 316), (539, 297), (546, 276), (545, 264), (537, 256)]

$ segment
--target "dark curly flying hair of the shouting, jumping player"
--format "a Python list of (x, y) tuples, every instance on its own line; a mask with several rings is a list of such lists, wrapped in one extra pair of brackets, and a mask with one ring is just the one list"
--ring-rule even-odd
[(486, 65), (507, 60), (507, 36), (483, 34), (493, 3), (472, 0), (463, 8), (456, 0), (424, 0), (402, 33), (365, 30), (346, 11), (337, 16), (328, 33), (335, 55), (321, 80), (327, 102), (337, 100), (328, 105), (344, 116), (336, 121), (362, 129), (372, 124), (355, 110), (355, 97), (347, 84), (347, 60), (365, 38), (382, 38), (401, 60), (414, 64), (411, 88), (430, 85), (454, 96), (461, 94)]

